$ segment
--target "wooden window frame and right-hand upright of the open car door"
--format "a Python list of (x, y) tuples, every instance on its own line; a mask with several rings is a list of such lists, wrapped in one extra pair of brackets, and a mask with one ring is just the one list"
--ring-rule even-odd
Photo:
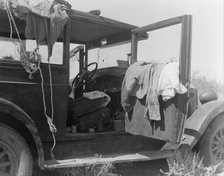
[[(190, 70), (191, 70), (191, 35), (192, 35), (192, 15), (179, 16), (167, 20), (163, 20), (157, 23), (146, 25), (132, 30), (131, 41), (131, 64), (137, 62), (137, 50), (139, 34), (155, 31), (161, 28), (170, 26), (181, 25), (181, 41), (180, 41), (180, 56), (179, 56), (179, 80), (187, 90), (187, 97), (189, 97), (189, 85), (190, 85)], [(181, 97), (178, 98), (178, 107), (180, 109), (187, 109), (188, 101), (181, 101)], [(186, 120), (186, 113), (178, 110), (176, 115), (180, 122), (179, 133), (177, 134), (177, 143), (180, 143), (184, 131), (184, 124)]]

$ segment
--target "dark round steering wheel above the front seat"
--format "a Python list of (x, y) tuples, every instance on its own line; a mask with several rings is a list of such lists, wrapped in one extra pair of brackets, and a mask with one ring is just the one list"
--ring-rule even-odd
[[(90, 66), (94, 65), (94, 69), (91, 71), (88, 71), (88, 68)], [(81, 87), (85, 82), (88, 82), (89, 80), (91, 80), (91, 78), (93, 77), (93, 75), (96, 73), (98, 64), (96, 62), (92, 62), (89, 65), (85, 66), (74, 78), (74, 80), (72, 81), (71, 87), (72, 89), (77, 89), (79, 87)]]

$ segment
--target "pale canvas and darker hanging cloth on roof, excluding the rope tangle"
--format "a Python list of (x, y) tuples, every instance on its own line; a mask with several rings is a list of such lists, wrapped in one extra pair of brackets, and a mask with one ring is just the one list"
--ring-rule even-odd
[(26, 38), (35, 39), (37, 46), (47, 45), (50, 57), (53, 45), (68, 20), (66, 10), (71, 5), (64, 0), (0, 0), (0, 8), (25, 20)]

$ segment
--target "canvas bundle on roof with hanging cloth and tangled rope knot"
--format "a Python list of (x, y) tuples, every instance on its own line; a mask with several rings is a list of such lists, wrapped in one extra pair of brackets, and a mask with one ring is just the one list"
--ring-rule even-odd
[[(25, 38), (35, 39), (37, 43), (36, 49), (31, 53), (27, 53), (26, 49), (22, 47), (21, 57), (22, 65), (29, 73), (29, 78), (32, 79), (32, 74), (38, 69), (36, 63), (32, 63), (32, 60), (39, 62), (38, 48), (39, 45), (45, 44), (48, 46), (48, 61), (52, 55), (52, 48), (57, 41), (63, 26), (68, 20), (68, 15), (65, 11), (65, 5), (55, 1), (44, 0), (0, 0), (0, 8), (6, 11), (6, 16), (2, 17), (2, 30), (0, 34), (8, 33), (10, 31), (10, 38), (17, 37), (21, 43), (21, 33), (25, 35)], [(70, 6), (71, 7), (71, 6)], [(4, 13), (3, 13), (4, 14)], [(25, 27), (21, 32), (21, 24), (16, 23), (16, 20), (26, 21)], [(4, 24), (7, 20), (8, 24)], [(19, 25), (18, 25), (19, 24)], [(5, 31), (9, 26), (9, 30)], [(25, 32), (24, 32), (25, 31)], [(13, 36), (14, 33), (14, 36)], [(24, 37), (24, 36), (23, 36)]]

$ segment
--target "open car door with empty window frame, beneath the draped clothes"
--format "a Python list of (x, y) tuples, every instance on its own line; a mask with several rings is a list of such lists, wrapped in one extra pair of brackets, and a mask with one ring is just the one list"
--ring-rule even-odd
[[(190, 15), (185, 15), (132, 30), (131, 62), (134, 63), (137, 61), (138, 35), (180, 24), (179, 80), (189, 92), (191, 20), (192, 17)], [(188, 109), (188, 92), (184, 95), (176, 94), (175, 97), (167, 102), (159, 100), (160, 121), (150, 121), (144, 118), (145, 104), (137, 100), (133, 112), (126, 116), (126, 131), (131, 134), (153, 137), (171, 143), (180, 143)]]

